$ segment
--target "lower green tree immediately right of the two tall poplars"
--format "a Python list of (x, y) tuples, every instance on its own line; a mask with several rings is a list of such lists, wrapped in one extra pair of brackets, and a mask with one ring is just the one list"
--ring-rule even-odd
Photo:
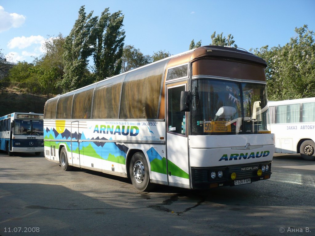
[(134, 46), (126, 45), (123, 48), (121, 72), (123, 73), (129, 70), (133, 70), (151, 62), (151, 56), (143, 55), (143, 53), (140, 52), (139, 48), (136, 49)]

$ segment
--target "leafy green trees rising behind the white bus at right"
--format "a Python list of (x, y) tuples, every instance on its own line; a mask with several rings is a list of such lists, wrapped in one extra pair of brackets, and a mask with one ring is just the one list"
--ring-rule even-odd
[(269, 100), (315, 97), (314, 32), (307, 25), (295, 28), (296, 37), (283, 47), (250, 51), (266, 60)]

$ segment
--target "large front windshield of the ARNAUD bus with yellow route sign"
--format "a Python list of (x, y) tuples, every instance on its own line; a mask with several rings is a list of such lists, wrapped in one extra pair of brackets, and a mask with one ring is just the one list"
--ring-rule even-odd
[(266, 85), (195, 79), (192, 134), (248, 134), (267, 130)]

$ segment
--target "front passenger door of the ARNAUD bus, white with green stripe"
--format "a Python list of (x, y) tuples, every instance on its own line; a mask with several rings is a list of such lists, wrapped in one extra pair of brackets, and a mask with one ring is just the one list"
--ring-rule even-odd
[(170, 186), (190, 188), (188, 163), (188, 117), (180, 111), (181, 91), (187, 90), (187, 82), (167, 85), (166, 94), (166, 143), (167, 174)]

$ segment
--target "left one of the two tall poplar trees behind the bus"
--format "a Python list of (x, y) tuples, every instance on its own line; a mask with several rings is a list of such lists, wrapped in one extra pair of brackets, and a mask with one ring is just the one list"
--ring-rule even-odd
[(65, 75), (60, 82), (63, 92), (83, 87), (92, 82), (87, 67), (88, 58), (94, 52), (95, 25), (98, 22), (98, 17), (92, 17), (92, 14), (93, 11), (86, 15), (85, 8), (82, 6), (78, 19), (65, 39), (63, 54)]

